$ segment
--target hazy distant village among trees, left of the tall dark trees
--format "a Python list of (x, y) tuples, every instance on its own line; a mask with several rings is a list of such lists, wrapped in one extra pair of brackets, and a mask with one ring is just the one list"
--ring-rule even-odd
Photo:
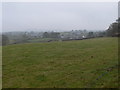
[(104, 37), (105, 31), (87, 31), (71, 30), (66, 32), (5, 32), (3, 33), (6, 44), (34, 43), (34, 42), (51, 42), (81, 40), (94, 37)]

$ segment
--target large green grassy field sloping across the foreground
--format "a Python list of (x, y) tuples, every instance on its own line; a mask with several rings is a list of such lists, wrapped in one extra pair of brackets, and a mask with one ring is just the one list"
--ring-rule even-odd
[(118, 39), (3, 47), (3, 88), (118, 87)]

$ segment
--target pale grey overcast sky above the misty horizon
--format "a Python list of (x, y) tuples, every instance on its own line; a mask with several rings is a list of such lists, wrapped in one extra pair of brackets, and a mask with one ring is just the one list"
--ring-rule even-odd
[(4, 2), (2, 30), (5, 32), (105, 30), (118, 17), (117, 4), (117, 2)]

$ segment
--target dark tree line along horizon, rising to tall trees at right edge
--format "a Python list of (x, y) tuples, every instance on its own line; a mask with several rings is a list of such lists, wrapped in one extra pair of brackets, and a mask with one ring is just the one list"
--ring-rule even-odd
[[(28, 43), (29, 40), (50, 38), (50, 40), (75, 40), (95, 37), (119, 37), (120, 36), (120, 18), (110, 24), (105, 31), (87, 31), (87, 30), (72, 30), (69, 32), (10, 32), (4, 33), (2, 36), (2, 44), (18, 44)], [(43, 40), (44, 41), (44, 40)], [(49, 41), (49, 40), (48, 40)]]

